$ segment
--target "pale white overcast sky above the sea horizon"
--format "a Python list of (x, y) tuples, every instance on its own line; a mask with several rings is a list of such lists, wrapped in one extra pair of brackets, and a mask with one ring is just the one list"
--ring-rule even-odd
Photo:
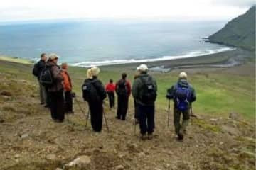
[(0, 21), (57, 18), (167, 18), (229, 20), (255, 0), (3, 0)]

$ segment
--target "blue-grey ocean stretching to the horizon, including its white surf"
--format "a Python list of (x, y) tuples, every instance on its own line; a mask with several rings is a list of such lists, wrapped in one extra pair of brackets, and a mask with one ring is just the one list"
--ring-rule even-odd
[(0, 25), (0, 55), (38, 59), (55, 52), (60, 62), (91, 65), (148, 62), (232, 50), (203, 42), (225, 21), (61, 21)]

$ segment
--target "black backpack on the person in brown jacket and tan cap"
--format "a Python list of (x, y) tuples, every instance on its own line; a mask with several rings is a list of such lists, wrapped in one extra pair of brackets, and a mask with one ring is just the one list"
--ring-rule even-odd
[(53, 74), (51, 72), (51, 68), (52, 66), (46, 66), (40, 74), (39, 81), (46, 88), (50, 88), (55, 83), (53, 79)]

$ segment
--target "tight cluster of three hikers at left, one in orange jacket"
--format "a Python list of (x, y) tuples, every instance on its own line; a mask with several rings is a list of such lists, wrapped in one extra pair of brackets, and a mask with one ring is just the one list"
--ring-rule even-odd
[(59, 67), (58, 58), (56, 54), (41, 54), (41, 60), (33, 67), (33, 75), (38, 79), (41, 105), (50, 108), (51, 118), (61, 123), (65, 113), (73, 113), (73, 93), (68, 64)]

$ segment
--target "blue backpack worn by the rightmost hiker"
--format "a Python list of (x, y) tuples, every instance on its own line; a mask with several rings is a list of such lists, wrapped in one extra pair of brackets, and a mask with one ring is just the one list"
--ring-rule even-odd
[(177, 85), (175, 93), (176, 108), (178, 111), (187, 111), (189, 108), (188, 98), (190, 96), (190, 91), (188, 87), (182, 87)]

